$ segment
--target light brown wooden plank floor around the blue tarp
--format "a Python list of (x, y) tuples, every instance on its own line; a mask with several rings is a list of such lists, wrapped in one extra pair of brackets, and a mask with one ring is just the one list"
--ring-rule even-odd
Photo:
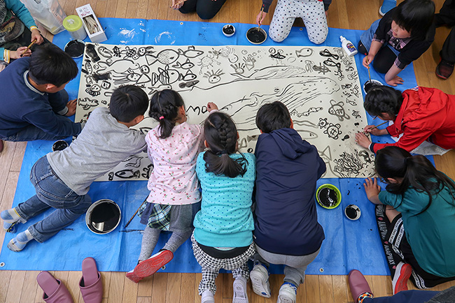
[[(370, 24), (379, 19), (377, 13), (381, 0), (334, 0), (328, 10), (330, 27), (343, 29), (367, 29)], [(400, 0), (399, 0), (400, 1)], [(160, 20), (200, 21), (195, 14), (182, 15), (169, 8), (170, 0), (59, 0), (66, 15), (75, 14), (75, 8), (90, 3), (98, 17), (146, 18)], [(228, 0), (221, 12), (211, 22), (243, 22), (254, 23), (260, 9), (261, 0)], [(435, 0), (437, 11), (443, 0)], [(276, 1), (272, 4), (273, 12)], [(272, 13), (267, 16), (267, 24)], [(297, 22), (301, 25), (302, 22)], [(172, 29), (169, 29), (172, 30)], [(435, 67), (439, 61), (439, 50), (449, 29), (437, 29), (435, 43), (423, 56), (414, 63), (417, 83), (424, 87), (437, 87), (448, 94), (455, 94), (455, 75), (449, 80), (440, 80), (435, 76)], [(353, 41), (356, 44), (356, 41)], [(5, 149), (0, 154), (0, 210), (8, 209), (13, 203), (16, 184), (20, 172), (26, 143), (6, 142)], [(436, 167), (449, 177), (455, 177), (455, 151), (444, 156), (435, 156)], [(4, 232), (0, 231), (0, 246)], [(44, 245), (44, 244), (43, 244)], [(139, 252), (138, 252), (139, 253)], [(0, 271), (0, 303), (14, 302), (43, 302), (41, 288), (36, 283), (38, 272)], [(74, 302), (83, 302), (78, 290), (80, 272), (52, 272), (61, 279), (73, 295)], [(164, 274), (158, 273), (144, 279), (140, 283), (132, 283), (125, 279), (123, 272), (103, 272), (104, 303), (151, 303), (151, 302), (200, 302), (197, 294), (197, 284), (201, 274)], [(272, 275), (272, 298), (251, 294), (248, 286), (250, 302), (276, 302), (276, 295), (281, 286), (283, 276)], [(216, 280), (218, 291), (216, 302), (232, 302), (232, 275), (221, 274)], [(367, 276), (375, 296), (392, 295), (391, 279), (388, 276)], [(445, 283), (433, 288), (443, 290), (454, 286), (455, 283)], [(409, 283), (409, 288), (413, 288)], [(353, 302), (347, 285), (346, 276), (311, 276), (306, 277), (303, 286), (298, 288), (297, 303), (339, 303)]]

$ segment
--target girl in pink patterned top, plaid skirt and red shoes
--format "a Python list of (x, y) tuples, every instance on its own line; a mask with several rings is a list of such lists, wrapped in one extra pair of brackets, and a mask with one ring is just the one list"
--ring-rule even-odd
[[(214, 103), (207, 104), (209, 112), (217, 109)], [(202, 126), (187, 123), (183, 99), (172, 89), (153, 95), (148, 114), (160, 125), (146, 135), (148, 158), (153, 162), (147, 185), (150, 195), (139, 209), (146, 228), (138, 265), (127, 272), (127, 278), (136, 283), (172, 260), (193, 232), (195, 214), (201, 209), (196, 159), (204, 150)], [(151, 256), (162, 230), (172, 231), (172, 235)]]

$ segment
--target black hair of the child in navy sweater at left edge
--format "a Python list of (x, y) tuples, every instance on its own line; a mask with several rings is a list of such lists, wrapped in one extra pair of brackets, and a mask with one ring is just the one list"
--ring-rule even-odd
[(29, 77), (36, 84), (61, 87), (78, 75), (73, 58), (52, 43), (38, 45), (30, 57)]

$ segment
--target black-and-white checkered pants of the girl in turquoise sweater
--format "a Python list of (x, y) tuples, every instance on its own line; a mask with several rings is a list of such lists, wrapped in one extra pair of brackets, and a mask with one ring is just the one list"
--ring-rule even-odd
[(195, 254), (197, 263), (202, 267), (202, 280), (199, 283), (200, 295), (207, 289), (215, 294), (215, 279), (222, 268), (232, 271), (234, 278), (243, 276), (248, 281), (249, 270), (247, 262), (255, 253), (254, 242), (240, 256), (227, 259), (214, 258), (202, 251), (200, 246), (197, 245), (194, 234), (191, 235), (191, 243), (193, 244), (193, 253)]

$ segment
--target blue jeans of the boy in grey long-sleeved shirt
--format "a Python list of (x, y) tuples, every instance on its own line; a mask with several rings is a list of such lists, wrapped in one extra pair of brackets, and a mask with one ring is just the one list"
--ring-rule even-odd
[(87, 212), (92, 204), (88, 195), (74, 193), (55, 175), (46, 156), (36, 161), (31, 168), (30, 181), (35, 186), (36, 195), (15, 207), (23, 221), (50, 207), (55, 208), (55, 212), (28, 228), (34, 239), (40, 243), (69, 226)]

